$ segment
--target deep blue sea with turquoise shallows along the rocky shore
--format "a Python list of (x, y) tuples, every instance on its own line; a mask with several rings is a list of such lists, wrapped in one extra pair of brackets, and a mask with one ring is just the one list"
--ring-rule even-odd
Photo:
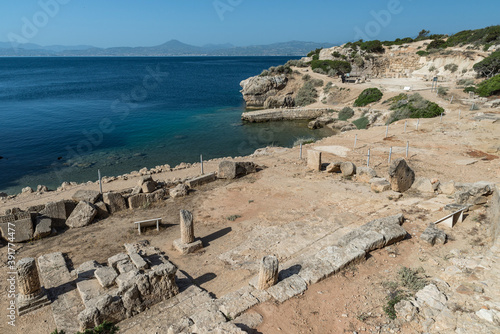
[(240, 81), (289, 59), (0, 58), (0, 191), (330, 135), (304, 122), (241, 122)]

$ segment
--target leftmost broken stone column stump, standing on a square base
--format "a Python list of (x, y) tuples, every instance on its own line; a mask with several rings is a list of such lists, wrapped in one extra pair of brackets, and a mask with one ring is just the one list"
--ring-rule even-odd
[(17, 311), (23, 315), (50, 303), (40, 284), (34, 258), (24, 258), (17, 262)]

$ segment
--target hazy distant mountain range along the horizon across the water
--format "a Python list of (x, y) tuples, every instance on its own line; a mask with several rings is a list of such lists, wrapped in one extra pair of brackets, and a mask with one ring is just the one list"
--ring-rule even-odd
[(15, 48), (8, 42), (0, 42), (0, 56), (8, 57), (145, 57), (145, 56), (305, 56), (317, 48), (332, 47), (332, 43), (291, 41), (268, 45), (236, 47), (231, 44), (207, 44), (194, 46), (171, 40), (150, 47), (97, 48), (90, 45), (19, 44)]

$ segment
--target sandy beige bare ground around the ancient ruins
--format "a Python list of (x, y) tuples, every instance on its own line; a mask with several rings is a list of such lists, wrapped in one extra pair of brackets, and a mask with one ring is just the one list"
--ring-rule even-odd
[[(423, 95), (436, 99), (430, 92)], [(352, 161), (363, 166), (370, 149), (370, 166), (379, 176), (386, 177), (390, 147), (392, 159), (404, 157), (409, 142), (408, 162), (417, 176), (443, 182), (488, 180), (500, 184), (500, 159), (498, 152), (492, 149), (500, 148), (500, 122), (475, 121), (477, 111), (468, 112), (459, 104), (438, 102), (447, 111), (443, 123), (439, 123), (439, 119), (420, 120), (417, 131), (416, 120), (409, 120), (404, 133), (404, 121), (399, 121), (390, 126), (388, 138), (385, 138), (385, 127), (373, 127), (325, 138), (306, 145), (305, 150), (343, 146), (347, 148), (343, 150), (347, 152), (345, 157), (326, 152), (335, 152), (334, 149), (326, 150), (323, 161)], [(459, 108), (462, 108), (460, 119)], [(358, 141), (353, 148), (355, 135)], [(395, 202), (384, 193), (372, 192), (368, 184), (342, 179), (340, 175), (307, 171), (305, 161), (299, 160), (297, 147), (269, 148), (263, 155), (238, 159), (254, 161), (263, 169), (235, 181), (218, 180), (202, 186), (186, 198), (168, 199), (148, 209), (121, 212), (86, 228), (17, 245), (16, 259), (57, 251), (67, 254), (76, 268), (88, 260), (106, 262), (108, 257), (123, 251), (124, 243), (147, 239), (196, 284), (220, 297), (247, 284), (257, 273), (256, 264), (263, 255), (276, 254), (280, 263), (284, 263), (326, 233), (338, 231), (341, 236), (374, 218), (404, 212), (407, 221), (403, 226), (411, 239), (393, 246), (392, 250), (372, 253), (366, 262), (311, 286), (304, 295), (282, 305), (268, 302), (250, 310), (264, 317), (258, 328), (260, 333), (379, 333), (391, 326), (382, 311), (387, 295), (383, 282), (394, 280), (401, 266), (422, 266), (427, 275), (433, 276), (442, 269), (445, 255), (451, 249), (468, 249), (472, 254), (484, 252), (488, 245), (487, 224), (478, 225), (478, 220), (473, 219), (479, 217), (481, 211), (471, 213), (463, 224), (448, 231), (453, 238), (445, 246), (430, 248), (418, 239), (429, 222), (443, 215), (442, 206), (453, 201), (446, 196), (431, 199), (433, 195), (409, 192)], [(207, 162), (205, 171), (216, 170), (219, 161)], [(198, 174), (199, 166), (194, 166), (155, 174), (154, 178), (168, 180)], [(136, 182), (137, 178), (114, 181), (105, 184), (104, 191), (132, 187)], [(19, 196), (0, 203), (0, 211), (71, 198), (76, 190), (83, 188), (98, 189), (98, 186), (80, 185), (64, 192)], [(203, 250), (189, 256), (181, 256), (172, 248), (172, 241), (180, 233), (179, 209), (193, 211), (195, 235), (204, 244)], [(227, 217), (231, 215), (241, 217), (230, 221)], [(160, 232), (151, 229), (137, 235), (133, 221), (156, 217), (163, 218)], [(471, 241), (470, 231), (474, 228), (474, 237), (484, 242)], [(0, 252), (5, 259), (6, 247)], [(2, 261), (2, 287), (7, 272)], [(7, 292), (2, 288), (1, 333), (46, 334), (55, 329), (50, 307), (18, 317), (15, 328), (8, 326), (6, 303)], [(403, 327), (401, 332), (417, 333), (417, 329)]]

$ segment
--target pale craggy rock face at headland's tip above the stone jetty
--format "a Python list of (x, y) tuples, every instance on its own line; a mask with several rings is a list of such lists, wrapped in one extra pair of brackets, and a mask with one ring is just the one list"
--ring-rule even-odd
[(286, 87), (287, 82), (288, 78), (284, 74), (251, 77), (240, 83), (243, 88), (241, 93), (247, 107), (262, 108), (269, 97)]

